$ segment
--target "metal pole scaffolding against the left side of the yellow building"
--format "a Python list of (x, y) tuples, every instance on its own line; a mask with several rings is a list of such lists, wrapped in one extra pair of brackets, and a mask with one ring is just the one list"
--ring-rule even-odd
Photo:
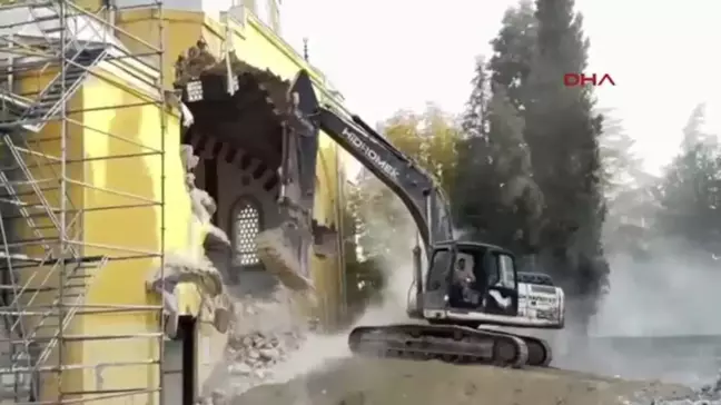
[[(118, 66), (125, 59), (157, 73), (146, 83), (145, 93), (148, 93), (147, 103), (158, 106), (161, 113), (160, 127), (157, 128), (160, 146), (139, 145), (121, 135), (100, 130), (92, 130), (92, 137), (136, 144), (135, 157), (126, 155), (121, 158), (147, 159), (155, 155), (160, 159), (160, 178), (165, 179), (162, 160), (167, 118), (162, 89), (162, 4), (160, 0), (148, 1), (152, 2), (138, 4), (138, 1), (132, 1), (132, 8), (151, 10), (148, 16), (152, 16), (155, 22), (151, 23), (157, 24), (155, 43), (116, 26), (116, 13), (127, 9), (109, 1), (99, 1), (96, 11), (87, 11), (69, 0), (11, 0), (0, 6), (0, 404), (97, 402), (146, 393), (157, 393), (162, 403), (160, 377), (157, 386), (112, 391), (72, 391), (62, 383), (63, 375), (73, 371), (131, 365), (130, 362), (88, 364), (95, 359), (83, 363), (82, 357), (65, 354), (66, 345), (71, 342), (72, 345), (82, 345), (91, 340), (157, 340), (157, 358), (142, 363), (157, 367), (158, 376), (162, 371), (161, 306), (91, 304), (86, 303), (86, 293), (97, 275), (116, 260), (152, 258), (162, 267), (165, 186), (161, 186), (159, 199), (148, 199), (124, 190), (102, 189), (83, 178), (72, 178), (68, 171), (70, 165), (86, 165), (82, 150), (76, 157), (70, 156), (72, 135), (80, 129), (87, 137), (92, 130), (82, 119), (75, 118), (83, 111), (71, 110), (70, 100), (91, 77), (119, 86), (98, 71), (106, 66), (103, 63), (115, 61)], [(27, 80), (22, 78), (28, 75), (47, 76), (50, 80), (39, 91), (27, 92), (21, 89), (27, 86), (19, 82)], [(49, 144), (55, 147), (48, 147)], [(85, 190), (90, 189), (136, 201), (95, 206), (91, 207), (93, 211), (129, 210), (144, 206), (159, 209), (159, 247), (141, 250), (87, 241), (83, 216), (89, 208), (85, 208), (83, 196)], [(88, 250), (102, 254), (88, 255)], [(157, 316), (157, 330), (124, 335), (72, 334), (69, 327), (75, 318), (86, 314), (131, 312)], [(138, 366), (138, 362), (132, 364)], [(41, 389), (45, 387), (47, 391), (48, 386), (57, 387), (57, 393), (50, 394), (51, 399), (43, 399)]]

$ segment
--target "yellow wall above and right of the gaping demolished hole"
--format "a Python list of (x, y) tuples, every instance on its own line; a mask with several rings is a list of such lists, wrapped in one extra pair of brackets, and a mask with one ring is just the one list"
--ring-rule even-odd
[[(165, 77), (166, 86), (171, 86), (174, 78), (174, 62), (178, 55), (185, 52), (192, 46), (198, 38), (203, 36), (208, 42), (209, 49), (215, 55), (220, 55), (221, 43), (225, 38), (225, 28), (218, 21), (210, 20), (203, 14), (166, 10), (165, 17)], [(146, 38), (148, 41), (156, 40), (158, 37), (158, 21), (149, 16), (147, 11), (137, 10), (128, 11), (120, 14), (118, 24), (128, 32), (139, 38)], [(260, 23), (253, 14), (246, 13), (246, 21), (237, 24), (235, 21), (229, 22), (233, 32), (233, 47), (237, 56), (260, 69), (270, 69), (275, 75), (284, 79), (293, 79), (300, 69), (310, 72), (316, 82), (318, 97), (323, 100), (326, 98), (326, 91), (323, 86), (325, 78), (315, 68), (310, 67), (297, 55), (287, 43), (278, 38), (274, 32)], [(137, 45), (137, 41), (126, 37), (125, 43), (128, 46)], [(316, 219), (326, 225), (336, 223), (336, 189), (335, 170), (336, 154), (338, 147), (325, 134), (320, 136), (320, 150), (318, 152), (317, 174), (323, 178), (317, 187), (315, 216)], [(344, 154), (345, 155), (345, 154)], [(326, 171), (334, 169), (330, 171)], [(338, 307), (336, 292), (339, 284), (338, 260), (335, 258), (320, 259), (312, 256), (312, 271), (314, 281), (322, 287), (322, 303), (327, 307), (320, 308), (322, 314), (335, 318), (333, 315)], [(325, 287), (332, 289), (326, 290)]]

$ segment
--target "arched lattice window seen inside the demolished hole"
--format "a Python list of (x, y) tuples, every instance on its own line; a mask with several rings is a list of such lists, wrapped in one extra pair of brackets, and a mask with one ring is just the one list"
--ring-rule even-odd
[(260, 259), (256, 253), (256, 237), (260, 231), (260, 209), (257, 204), (241, 198), (233, 205), (233, 247), (235, 266), (256, 266)]

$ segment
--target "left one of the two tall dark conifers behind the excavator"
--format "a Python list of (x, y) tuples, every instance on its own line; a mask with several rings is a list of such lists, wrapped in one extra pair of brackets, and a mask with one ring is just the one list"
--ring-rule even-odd
[(470, 228), (472, 237), (529, 257), (537, 246), (543, 208), (524, 137), (536, 30), (530, 2), (508, 9), (491, 41), (493, 57), (476, 62), (454, 192), (460, 226)]

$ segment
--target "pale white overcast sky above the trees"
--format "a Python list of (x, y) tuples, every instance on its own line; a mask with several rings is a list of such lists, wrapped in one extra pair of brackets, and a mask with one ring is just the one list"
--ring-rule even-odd
[[(461, 112), (474, 59), (512, 0), (285, 0), (283, 34), (346, 105), (376, 122), (426, 102)], [(678, 149), (692, 108), (708, 102), (709, 129), (721, 135), (719, 0), (576, 0), (591, 39), (590, 71), (609, 73), (600, 106), (614, 108), (656, 171)], [(714, 73), (717, 72), (717, 73)]]

